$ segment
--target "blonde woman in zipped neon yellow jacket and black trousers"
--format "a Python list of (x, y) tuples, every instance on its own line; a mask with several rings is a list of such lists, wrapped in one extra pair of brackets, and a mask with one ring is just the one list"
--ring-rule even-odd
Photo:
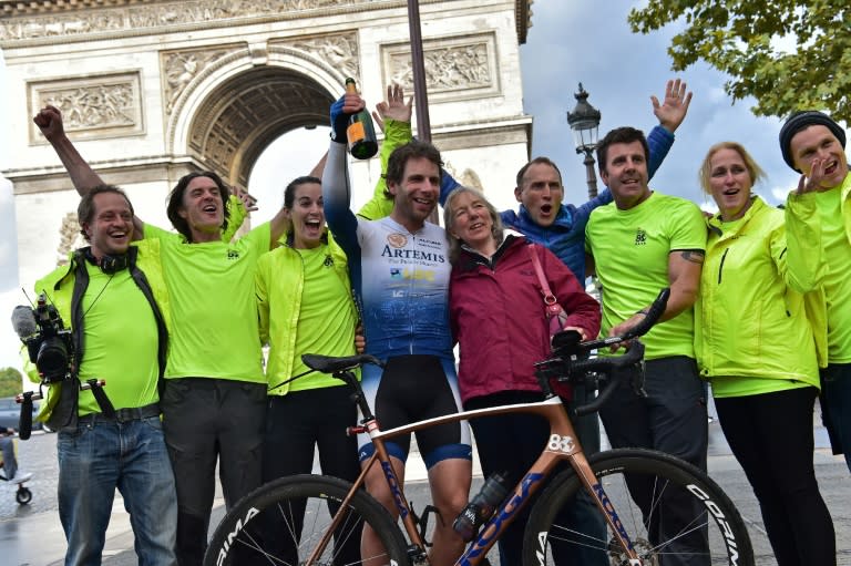
[(813, 335), (806, 295), (820, 291), (819, 235), (787, 226), (781, 210), (751, 195), (762, 176), (737, 143), (714, 145), (704, 159), (700, 184), (719, 213), (708, 220), (695, 350), (778, 565), (834, 565), (833, 523), (812, 464), (823, 337)]

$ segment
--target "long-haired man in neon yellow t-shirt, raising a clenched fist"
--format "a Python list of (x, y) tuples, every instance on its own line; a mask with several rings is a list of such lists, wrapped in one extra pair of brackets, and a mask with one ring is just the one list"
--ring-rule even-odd
[[(65, 135), (59, 110), (48, 106), (33, 121), (81, 195), (102, 183)], [(260, 255), (284, 234), (286, 217), (280, 212), (238, 240), (225, 241), (229, 194), (215, 173), (189, 173), (167, 205), (180, 234), (133, 216), (133, 239), (160, 243), (168, 291), (168, 303), (161, 305), (171, 321), (161, 408), (177, 487), (182, 566), (203, 560), (216, 464), (227, 507), (262, 483), (266, 378), (254, 278)]]

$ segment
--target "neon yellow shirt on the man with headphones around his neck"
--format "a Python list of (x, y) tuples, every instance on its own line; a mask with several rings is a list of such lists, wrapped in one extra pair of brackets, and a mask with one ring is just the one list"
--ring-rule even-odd
[[(110, 276), (88, 261), (85, 267), (89, 287), (82, 301), (85, 351), (80, 381), (105, 379), (104, 392), (115, 409), (156, 402), (160, 399), (158, 341), (151, 305), (129, 269)], [(92, 392), (81, 391), (78, 414), (99, 412), (101, 409)]]

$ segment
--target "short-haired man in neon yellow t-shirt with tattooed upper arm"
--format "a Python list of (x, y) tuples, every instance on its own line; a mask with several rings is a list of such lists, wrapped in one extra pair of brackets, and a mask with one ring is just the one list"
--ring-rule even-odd
[[(660, 450), (706, 470), (706, 390), (693, 346), (706, 225), (693, 203), (650, 191), (648, 155), (644, 134), (632, 127), (613, 130), (597, 148), (601, 176), (614, 197), (591, 214), (585, 228), (587, 266), (603, 286), (602, 336), (637, 325), (659, 290), (670, 287), (660, 322), (643, 338), (647, 397), (635, 394), (632, 379), (621, 380), (599, 415), (613, 446)], [(639, 505), (650, 498), (636, 496), (644, 488), (652, 487), (630, 484)], [(663, 512), (658, 532), (648, 533), (653, 543), (663, 533), (680, 532), (700, 513), (674, 490), (662, 505), (671, 512)], [(643, 511), (649, 516), (652, 510)], [(678, 538), (670, 556), (707, 556), (704, 536), (695, 529)]]

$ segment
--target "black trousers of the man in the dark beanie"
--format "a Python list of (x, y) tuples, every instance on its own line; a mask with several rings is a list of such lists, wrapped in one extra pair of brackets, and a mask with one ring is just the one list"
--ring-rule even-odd
[(844, 454), (851, 471), (851, 363), (821, 370), (821, 411), (834, 454)]

